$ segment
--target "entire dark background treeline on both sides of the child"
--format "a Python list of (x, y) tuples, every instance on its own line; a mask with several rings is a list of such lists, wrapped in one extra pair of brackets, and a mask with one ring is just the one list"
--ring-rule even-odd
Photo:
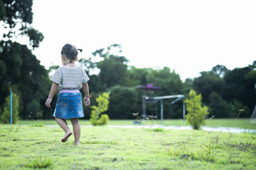
[[(38, 47), (44, 39), (41, 32), (33, 29), (32, 0), (1, 1), (0, 19), (4, 34), (0, 41), (0, 115), (6, 106), (6, 97), (10, 89), (19, 96), (19, 116), (22, 119), (52, 118), (57, 94), (52, 101), (52, 107), (46, 108), (44, 103), (51, 88), (49, 70), (40, 65), (31, 50)], [(28, 45), (21, 45), (15, 39), (27, 37)], [(95, 59), (98, 62), (93, 62)], [(168, 67), (161, 69), (136, 68), (128, 66), (129, 61), (122, 56), (120, 45), (111, 45), (96, 50), (88, 59), (79, 60), (90, 76), (90, 92), (92, 105), (95, 98), (102, 92), (111, 92), (109, 109), (106, 111), (110, 118), (133, 118), (132, 113), (142, 112), (142, 96), (152, 95), (143, 92), (139, 86), (152, 83), (162, 87), (155, 96), (185, 94), (194, 89), (202, 94), (203, 103), (209, 106), (209, 117), (234, 118), (237, 110), (245, 111), (240, 117), (250, 117), (256, 101), (256, 60), (243, 68), (233, 70), (225, 66), (215, 66), (210, 71), (203, 71), (194, 79), (182, 82), (180, 76)], [(232, 61), (230, 61), (232, 62)], [(191, 67), (193, 67), (191, 65)], [(188, 67), (188, 71), (189, 71)], [(97, 74), (95, 74), (97, 73)], [(181, 118), (182, 101), (171, 104), (171, 99), (164, 100), (164, 117)], [(84, 108), (85, 118), (90, 118), (91, 106)], [(156, 107), (155, 107), (156, 106)], [(159, 103), (148, 104), (147, 113), (160, 113)]]

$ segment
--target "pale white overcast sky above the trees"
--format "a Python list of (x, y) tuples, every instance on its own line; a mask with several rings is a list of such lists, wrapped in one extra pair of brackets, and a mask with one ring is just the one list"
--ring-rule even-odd
[(117, 43), (129, 66), (170, 67), (184, 81), (256, 60), (255, 9), (246, 0), (34, 0), (32, 25), (44, 41), (33, 53), (60, 66), (65, 43), (83, 49), (80, 59)]

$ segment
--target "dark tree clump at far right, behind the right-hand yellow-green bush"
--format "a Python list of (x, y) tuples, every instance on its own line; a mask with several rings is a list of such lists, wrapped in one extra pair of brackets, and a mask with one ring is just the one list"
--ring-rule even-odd
[(193, 80), (192, 88), (202, 94), (210, 117), (234, 118), (241, 108), (245, 111), (240, 117), (250, 117), (256, 101), (255, 83), (256, 60), (243, 68), (228, 70), (218, 65), (211, 71), (203, 71)]

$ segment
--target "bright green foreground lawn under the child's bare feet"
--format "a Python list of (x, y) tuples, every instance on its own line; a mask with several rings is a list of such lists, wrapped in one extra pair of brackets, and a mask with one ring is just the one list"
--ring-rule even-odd
[(61, 143), (64, 132), (60, 127), (32, 125), (0, 125), (0, 169), (254, 169), (256, 166), (255, 134), (81, 127), (81, 145), (74, 146), (73, 135), (67, 143)]

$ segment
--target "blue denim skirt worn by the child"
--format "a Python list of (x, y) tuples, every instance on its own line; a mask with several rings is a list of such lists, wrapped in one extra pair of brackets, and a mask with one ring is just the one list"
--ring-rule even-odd
[(65, 119), (84, 117), (81, 93), (61, 92), (52, 116)]

